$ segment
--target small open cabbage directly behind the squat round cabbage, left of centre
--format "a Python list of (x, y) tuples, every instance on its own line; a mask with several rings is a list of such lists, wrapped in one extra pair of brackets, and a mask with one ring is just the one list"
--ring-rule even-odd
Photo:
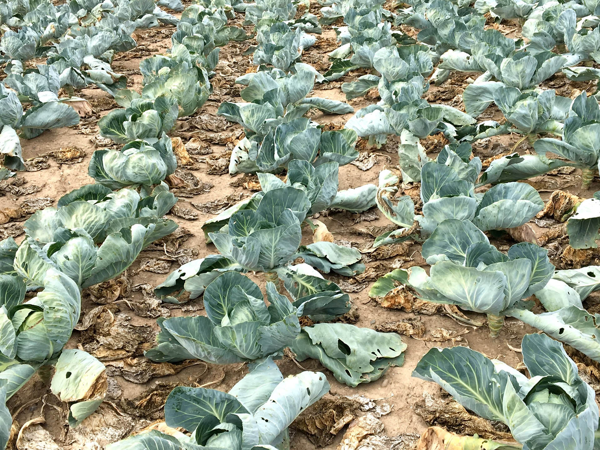
[(153, 100), (134, 98), (126, 109), (115, 109), (98, 121), (100, 135), (118, 143), (133, 140), (157, 142), (175, 125), (179, 115), (177, 99), (162, 94)]

